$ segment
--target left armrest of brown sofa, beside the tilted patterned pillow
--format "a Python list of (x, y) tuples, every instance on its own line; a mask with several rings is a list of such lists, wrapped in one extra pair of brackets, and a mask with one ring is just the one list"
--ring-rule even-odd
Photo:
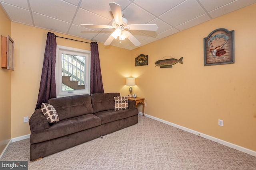
[(50, 128), (50, 124), (44, 117), (44, 113), (41, 109), (36, 109), (28, 122), (31, 133)]

